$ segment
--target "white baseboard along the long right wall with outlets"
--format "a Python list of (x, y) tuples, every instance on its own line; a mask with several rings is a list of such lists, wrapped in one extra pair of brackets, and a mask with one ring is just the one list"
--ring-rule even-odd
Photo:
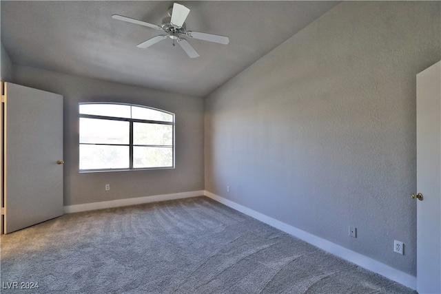
[(349, 262), (357, 264), (358, 266), (362, 266), (369, 271), (373, 271), (374, 273), (378, 273), (384, 277), (387, 277), (389, 280), (393, 280), (404, 286), (407, 286), (413, 290), (416, 290), (416, 277), (413, 275), (409, 275), (408, 273), (404, 273), (402, 271), (398, 271), (398, 269), (394, 269), (387, 264), (383, 264), (371, 258), (368, 258), (365, 255), (360, 253), (356, 253), (355, 251), (351, 251), (345, 247), (342, 247), (338, 244), (329, 242), (328, 240), (317, 237), (316, 235), (312, 235), (311, 233), (307, 233), (306, 231), (302, 231), (297, 229), (296, 227), (292, 227), (289, 224), (285, 224), (285, 222), (280, 222), (280, 220), (276, 220), (274, 218), (270, 218), (269, 216), (265, 216), (263, 213), (259, 213), (243, 205), (240, 205), (231, 200), (225, 199), (223, 197), (217, 196), (214, 193), (209, 191), (204, 191), (204, 195), (220, 202), (222, 204), (227, 205), (227, 207), (231, 207), (241, 213), (245, 213), (247, 216), (251, 216), (252, 218), (256, 218), (256, 220), (260, 220), (261, 222), (265, 222), (265, 224), (269, 224), (271, 227), (275, 227), (280, 231), (284, 231), (285, 233), (289, 233), (290, 235), (294, 235), (294, 237), (299, 238), (309, 244), (312, 244), (320, 249), (323, 249), (329, 253), (332, 253), (339, 258), (343, 258)]

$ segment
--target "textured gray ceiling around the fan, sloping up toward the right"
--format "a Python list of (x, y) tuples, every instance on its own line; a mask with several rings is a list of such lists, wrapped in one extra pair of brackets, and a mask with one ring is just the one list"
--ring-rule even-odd
[(189, 39), (190, 59), (172, 40), (112, 14), (161, 25), (173, 1), (1, 1), (1, 42), (12, 63), (157, 90), (206, 96), (336, 6), (334, 1), (181, 1), (187, 30), (229, 36)]

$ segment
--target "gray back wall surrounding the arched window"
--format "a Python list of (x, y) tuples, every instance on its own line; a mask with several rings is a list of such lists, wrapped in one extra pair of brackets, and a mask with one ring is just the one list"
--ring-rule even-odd
[[(64, 96), (64, 205), (204, 189), (202, 98), (19, 65), (13, 82)], [(89, 101), (134, 103), (176, 114), (176, 169), (80, 174), (78, 103)]]

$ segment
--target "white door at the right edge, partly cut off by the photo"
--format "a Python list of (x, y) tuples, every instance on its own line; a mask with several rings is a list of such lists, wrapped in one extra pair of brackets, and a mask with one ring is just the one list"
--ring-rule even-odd
[(417, 291), (441, 293), (441, 61), (417, 82)]

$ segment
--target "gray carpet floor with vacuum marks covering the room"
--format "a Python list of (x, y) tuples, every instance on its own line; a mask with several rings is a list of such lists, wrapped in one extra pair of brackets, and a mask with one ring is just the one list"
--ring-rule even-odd
[(1, 293), (416, 293), (205, 197), (3, 235), (0, 273)]

